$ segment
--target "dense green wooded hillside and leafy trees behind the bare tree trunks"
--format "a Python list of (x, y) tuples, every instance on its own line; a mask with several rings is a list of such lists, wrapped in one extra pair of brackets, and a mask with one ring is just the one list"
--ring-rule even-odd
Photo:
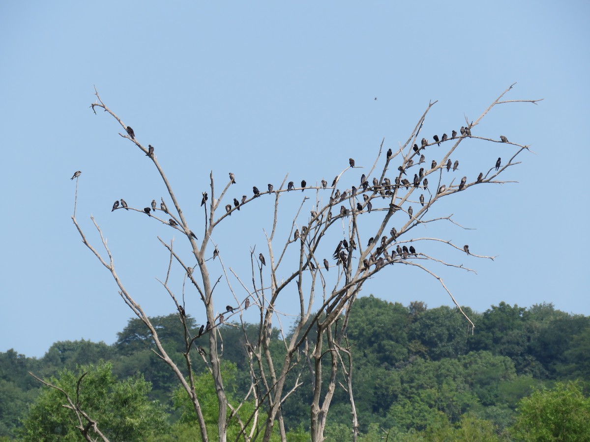
[[(355, 403), (362, 441), (590, 440), (590, 318), (550, 304), (523, 308), (501, 302), (482, 314), (428, 309), (369, 296), (356, 301), (348, 343), (355, 369)], [(198, 329), (193, 319), (191, 327)], [(154, 318), (165, 347), (182, 366), (182, 329), (175, 314)], [(255, 333), (255, 325), (248, 332)], [(241, 331), (224, 326), (224, 370), (238, 401), (250, 387)], [(280, 345), (278, 332), (274, 340)], [(152, 340), (131, 319), (113, 345), (56, 342), (40, 359), (0, 353), (0, 440), (81, 440), (63, 394), (42, 387), (28, 371), (76, 397), (112, 440), (194, 440), (198, 429), (178, 380), (151, 351)], [(217, 431), (214, 387), (201, 364), (201, 397)], [(293, 374), (294, 375), (294, 374)], [(569, 382), (569, 381), (581, 382)], [(309, 388), (283, 407), (289, 440), (309, 440)], [(244, 407), (253, 407), (245, 404)], [(351, 439), (351, 408), (336, 391), (327, 440)], [(549, 418), (550, 417), (550, 418)], [(235, 426), (237, 434), (238, 427)], [(231, 433), (230, 433), (231, 434)], [(234, 434), (234, 438), (235, 438)]]

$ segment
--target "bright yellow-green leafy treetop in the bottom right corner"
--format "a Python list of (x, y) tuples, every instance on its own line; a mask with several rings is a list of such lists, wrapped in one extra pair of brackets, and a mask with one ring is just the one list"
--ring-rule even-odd
[(518, 411), (511, 428), (518, 440), (590, 440), (590, 398), (578, 382), (558, 382), (552, 390), (537, 390), (519, 402)]

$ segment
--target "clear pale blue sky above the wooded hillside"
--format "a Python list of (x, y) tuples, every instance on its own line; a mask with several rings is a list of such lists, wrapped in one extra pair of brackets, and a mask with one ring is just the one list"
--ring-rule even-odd
[[(438, 100), (425, 136), (450, 134), (516, 82), (504, 98), (543, 101), (498, 105), (473, 132), (530, 146), (534, 153), (520, 154), (522, 163), (502, 175), (517, 183), (474, 186), (433, 209), (473, 230), (442, 222), (412, 235), (496, 257), (423, 246), (477, 271), (432, 265), (460, 305), (484, 312), (501, 301), (546, 302), (590, 315), (586, 180), (573, 167), (590, 161), (589, 12), (582, 1), (2, 2), (0, 351), (42, 357), (57, 341), (112, 344), (132, 317), (71, 220), (76, 170), (76, 219), (87, 238), (103, 251), (94, 216), (133, 298), (150, 316), (175, 312), (158, 282), (169, 263), (158, 236), (174, 239), (188, 259), (186, 238), (141, 213), (111, 212), (121, 198), (139, 209), (160, 197), (171, 204), (153, 164), (119, 136), (117, 121), (91, 110), (94, 87), (140, 143), (155, 146), (200, 241), (210, 173), (216, 192), (235, 173), (228, 196), (240, 199), (252, 186), (278, 188), (287, 174), (308, 185), (330, 181), (349, 157), (366, 171), (383, 138), (384, 148), (399, 148), (431, 101)], [(507, 149), (468, 141), (457, 156), (471, 180)], [(358, 180), (360, 170), (346, 171), (346, 181)], [(281, 200), (283, 240), (303, 200), (297, 193)], [(225, 265), (248, 288), (250, 250), (268, 252), (267, 197), (215, 232)], [(224, 275), (218, 262), (211, 272)], [(173, 268), (179, 296), (182, 283)], [(238, 280), (230, 283), (243, 299)], [(225, 279), (217, 290), (218, 308), (235, 304)], [(363, 287), (361, 295), (369, 294), (452, 305), (440, 283), (407, 266), (380, 272)], [(287, 314), (298, 309), (291, 295), (280, 299)], [(185, 288), (187, 312), (200, 323), (196, 296)], [(255, 312), (244, 319), (254, 322)]]

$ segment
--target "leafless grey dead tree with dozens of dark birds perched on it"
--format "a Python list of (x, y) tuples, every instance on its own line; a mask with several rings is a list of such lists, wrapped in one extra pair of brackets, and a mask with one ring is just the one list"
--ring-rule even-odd
[[(494, 257), (474, 253), (468, 245), (457, 245), (440, 238), (412, 236), (412, 233), (415, 232), (415, 227), (426, 223), (446, 221), (459, 226), (451, 216), (428, 216), (434, 204), (441, 199), (457, 192), (471, 190), (478, 184), (507, 183), (499, 180), (500, 174), (507, 168), (519, 164), (520, 161), (516, 161), (516, 157), (523, 150), (529, 150), (529, 147), (509, 141), (505, 136), (477, 134), (477, 126), (482, 118), (499, 104), (536, 104), (540, 101), (503, 100), (504, 94), (512, 89), (512, 86), (494, 100), (477, 120), (470, 121), (466, 118), (460, 132), (453, 130), (449, 134), (441, 134), (440, 137), (434, 136), (433, 140), (423, 135), (428, 111), (437, 102), (430, 103), (403, 145), (385, 152), (385, 140), (382, 141), (375, 163), (371, 169), (363, 172), (362, 176), (356, 173), (355, 160), (351, 158), (348, 161), (349, 166), (343, 169), (331, 184), (322, 180), (321, 184), (318, 182), (308, 186), (303, 181), (299, 185), (288, 182), (287, 176), (277, 189), (271, 184), (268, 184), (268, 189), (259, 190), (253, 187), (253, 196), (244, 196), (241, 200), (232, 201), (228, 197), (228, 190), (235, 183), (234, 174), (230, 173), (229, 181), (225, 182), (221, 192), (217, 194), (215, 184), (218, 180), (214, 179), (214, 174), (211, 173), (209, 189), (202, 196), (205, 219), (204, 222), (196, 222), (199, 227), (195, 228), (202, 238), (200, 242), (189, 227), (189, 220), (183, 214), (165, 171), (158, 162), (155, 149), (152, 146), (143, 146), (132, 128), (123, 123), (104, 104), (96, 91), (97, 100), (91, 108), (95, 113), (96, 108), (103, 108), (119, 122), (123, 127), (119, 135), (135, 144), (138, 153), (148, 156), (153, 162), (171, 201), (169, 207), (162, 199), (160, 204), (153, 201), (152, 207), (143, 208), (129, 207), (121, 200), (120, 206), (117, 201), (113, 210), (124, 208), (138, 212), (138, 216), (145, 216), (147, 213), (153, 222), (169, 225), (186, 237), (183, 247), (190, 249), (191, 256), (196, 261), (194, 266), (186, 262), (181, 258), (182, 254), (177, 253), (172, 242), (168, 243), (159, 238), (170, 255), (168, 275), (161, 283), (178, 309), (179, 321), (184, 325), (184, 336), (179, 339), (183, 339), (185, 343), (185, 367), (174, 364), (160, 343), (158, 333), (148, 315), (135, 301), (132, 293), (124, 287), (96, 220), (91, 217), (100, 233), (106, 255), (99, 253), (90, 244), (75, 215), (72, 216), (72, 220), (84, 244), (111, 273), (119, 286), (119, 294), (123, 301), (149, 328), (155, 342), (155, 353), (175, 372), (179, 384), (191, 398), (202, 440), (207, 441), (209, 436), (201, 403), (195, 391), (193, 367), (197, 363), (207, 366), (215, 383), (220, 441), (227, 440), (228, 424), (232, 420), (241, 428), (237, 440), (270, 440), (275, 425), (278, 425), (282, 440), (286, 440), (281, 404), (288, 401), (297, 388), (303, 388), (302, 385), (308, 383), (313, 393), (310, 404), (312, 440), (324, 439), (327, 414), (336, 388), (343, 388), (348, 392), (353, 410), (351, 428), (356, 440), (359, 423), (353, 395), (353, 361), (346, 341), (352, 305), (368, 279), (374, 278), (377, 273), (387, 272), (388, 269), (392, 269), (391, 266), (403, 265), (414, 266), (437, 279), (442, 289), (461, 310), (441, 277), (432, 271), (430, 264), (442, 263), (464, 271), (473, 270), (446, 262), (437, 256), (429, 256), (420, 250), (420, 246), (434, 241), (443, 243), (458, 253), (466, 253), (473, 259)], [(495, 164), (483, 164), (481, 170), (469, 171), (462, 179), (455, 179), (455, 176), (458, 176), (455, 173), (458, 170), (455, 154), (462, 143), (473, 139), (503, 143), (504, 160), (499, 158)], [(432, 146), (436, 145), (445, 149), (433, 149)], [(388, 173), (393, 179), (387, 176)], [(277, 222), (279, 203), (283, 202), (284, 198), (292, 199), (294, 193), (301, 195), (299, 192), (291, 192), (296, 190), (303, 192), (303, 200), (297, 215), (290, 223), (290, 232), (287, 235)], [(264, 194), (271, 197), (260, 202), (260, 197)], [(226, 256), (218, 249), (213, 239), (214, 230), (223, 223), (231, 222), (231, 215), (237, 213), (241, 207), (247, 204), (270, 204), (271, 201), (274, 203), (273, 223), (270, 231), (265, 231), (264, 252), (257, 255), (255, 245), (250, 251), (251, 283), (248, 283), (244, 275), (238, 275), (231, 266), (225, 264)], [(334, 246), (336, 248), (332, 253)], [(329, 254), (326, 253), (328, 248)], [(293, 250), (296, 250), (296, 253)], [(220, 262), (222, 271), (218, 275), (210, 273), (211, 258)], [(194, 286), (204, 306), (207, 324), (202, 325), (196, 334), (186, 325), (183, 296), (177, 295), (169, 284), (173, 265), (181, 266), (185, 278)], [(326, 278), (328, 272), (332, 279)], [(336, 276), (333, 273), (336, 273)], [(219, 309), (215, 305), (213, 293), (222, 279), (230, 288), (236, 307), (227, 306)], [(277, 309), (278, 296), (287, 291), (296, 292), (299, 298), (299, 312), (296, 315), (287, 315)], [(248, 306), (256, 308), (260, 313), (255, 339), (251, 339), (246, 333), (242, 318), (242, 312)], [(287, 316), (293, 321), (289, 333), (284, 331), (281, 322), (286, 320)], [(465, 317), (473, 331), (473, 323), (466, 315)], [(235, 326), (241, 326), (243, 331), (251, 374), (251, 388), (237, 404), (230, 404), (228, 401), (221, 371), (223, 328), (220, 325), (231, 320)], [(278, 322), (278, 330), (283, 338), (280, 355), (276, 354), (276, 350), (273, 351), (270, 345), (273, 320)], [(208, 341), (208, 345), (205, 345), (207, 348), (198, 345), (203, 339)], [(277, 364), (277, 361), (280, 361), (280, 364)], [(288, 382), (288, 379), (291, 381)], [(246, 401), (255, 404), (252, 413), (242, 411), (242, 405)]]

